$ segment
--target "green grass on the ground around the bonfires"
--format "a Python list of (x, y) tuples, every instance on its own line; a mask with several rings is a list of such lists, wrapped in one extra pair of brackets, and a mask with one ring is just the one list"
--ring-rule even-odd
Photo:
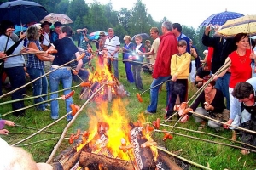
[[(142, 72), (143, 76), (143, 88), (147, 89), (150, 86), (150, 83), (152, 82), (151, 76), (144, 74)], [(134, 85), (131, 85), (130, 83), (126, 82), (125, 78), (125, 66), (122, 64), (122, 62), (119, 62), (119, 79), (120, 82), (122, 82), (128, 92), (130, 92), (131, 96), (122, 99), (124, 103), (127, 103), (125, 105), (125, 110), (129, 113), (129, 116), (127, 119), (131, 120), (131, 122), (137, 121), (137, 116), (144, 111), (149, 103), (149, 91), (144, 93), (142, 95), (143, 97), (143, 103), (139, 103), (137, 101), (137, 89)], [(74, 84), (73, 84), (74, 85)], [(163, 120), (164, 118), (164, 112), (162, 111), (163, 108), (166, 106), (166, 89), (165, 86), (162, 88), (163, 90), (160, 92), (159, 95), (159, 103), (158, 103), (158, 111), (153, 116), (146, 115), (146, 122), (152, 122), (153, 120), (156, 120), (156, 118), (160, 118)], [(190, 89), (190, 88), (189, 88)], [(192, 88), (191, 88), (192, 89)], [(73, 97), (74, 103), (76, 105), (82, 105), (84, 103), (84, 100), (79, 100), (79, 91), (80, 88), (76, 88), (76, 94)], [(29, 86), (26, 89), (26, 94), (32, 95), (32, 87)], [(189, 96), (192, 96), (195, 94), (195, 90), (189, 91)], [(0, 102), (9, 100), (9, 97), (5, 97), (3, 99), (0, 99)], [(32, 100), (26, 101), (26, 105), (31, 105), (33, 103)], [(66, 114), (65, 104), (62, 100), (59, 100), (60, 103), (60, 116), (63, 116)], [(108, 104), (109, 108), (111, 106), (111, 103)], [(4, 114), (7, 111), (11, 111), (11, 105), (1, 105), (0, 106), (0, 113)], [(90, 102), (89, 105), (86, 105), (84, 111), (82, 114), (79, 115), (78, 119), (74, 123), (73, 127), (71, 127), (68, 130), (68, 133), (75, 133), (78, 128), (81, 130), (88, 129), (88, 122), (90, 121), (90, 118), (87, 116), (90, 111), (94, 111), (96, 108), (96, 104), (93, 102)], [(109, 109), (110, 110), (110, 109)], [(12, 120), (13, 122), (27, 126), (27, 127), (35, 127), (35, 128), (43, 128), (47, 126), (49, 123), (53, 122), (50, 118), (49, 112), (44, 111), (35, 111), (34, 108), (27, 109), (26, 110), (26, 116), (24, 117), (15, 117), (11, 114), (9, 116), (4, 116), (3, 119)], [(177, 120), (175, 117), (174, 120)], [(170, 122), (168, 124), (173, 125), (175, 122)], [(47, 130), (59, 132), (61, 133), (63, 129), (66, 127), (67, 122), (66, 119), (62, 120), (61, 122), (58, 122), (52, 127), (49, 127)], [(195, 120), (191, 117), (189, 122), (182, 124), (177, 123), (177, 127), (184, 127), (192, 130), (196, 130), (199, 126), (198, 123), (195, 123)], [(35, 133), (34, 130), (29, 130), (21, 127), (6, 127), (9, 132), (11, 133)], [(171, 127), (161, 127), (161, 129), (171, 130)], [(230, 141), (224, 140), (224, 139), (218, 139), (216, 137), (207, 136), (200, 133), (192, 133), (187, 132), (184, 130), (179, 129), (173, 129), (174, 133), (182, 133), (187, 134), (189, 136), (194, 136), (201, 139), (209, 139), (212, 141), (218, 141), (226, 144), (232, 144)], [(214, 133), (214, 130), (212, 130), (210, 127), (207, 127), (203, 129), (203, 132), (207, 133)], [(229, 130), (225, 130), (224, 132), (220, 132), (218, 135), (224, 136), (226, 138), (231, 137), (231, 132)], [(9, 144), (15, 144), (16, 142), (20, 141), (21, 139), (25, 139), (28, 135), (24, 134), (9, 134), (8, 136), (1, 136), (3, 139), (5, 139)], [(51, 139), (55, 137), (60, 137), (61, 134), (38, 134), (32, 139), (26, 140), (24, 143), (20, 144), (21, 147), (23, 147), (25, 150), (28, 150), (30, 153), (32, 153), (32, 156), (34, 157), (35, 161), (47, 161), (51, 151), (53, 150), (55, 144), (57, 143), (58, 139), (52, 139), (45, 142), (40, 142), (37, 144), (32, 144), (29, 146), (24, 146), (23, 144), (30, 144), (32, 142), (36, 142), (38, 140), (42, 139)], [(67, 135), (68, 137), (68, 135)], [(173, 135), (172, 140), (166, 140), (166, 142), (163, 142), (161, 139), (163, 138), (162, 133), (154, 133), (153, 135), (154, 140), (160, 144), (161, 146), (165, 146), (168, 150), (178, 154), (179, 156), (183, 156), (184, 158), (195, 161), (198, 164), (201, 164), (203, 166), (209, 165), (212, 169), (242, 169), (242, 170), (253, 170), (256, 168), (256, 162), (255, 162), (255, 153), (251, 153), (247, 156), (242, 156), (239, 149), (231, 148), (228, 146), (220, 145), (220, 144), (212, 144), (210, 142), (204, 142), (198, 139), (189, 139), (186, 137), (182, 137), (179, 135)], [(239, 145), (239, 144), (236, 144)], [(61, 148), (59, 149), (59, 152), (61, 150), (64, 150), (69, 146), (68, 139), (65, 139), (65, 141), (62, 143)], [(58, 153), (57, 153), (58, 154)], [(57, 156), (57, 154), (55, 156)], [(199, 169), (198, 167), (191, 166), (190, 169)]]

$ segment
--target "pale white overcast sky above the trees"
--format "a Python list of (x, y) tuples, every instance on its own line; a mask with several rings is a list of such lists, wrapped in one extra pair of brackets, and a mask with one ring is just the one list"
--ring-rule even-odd
[[(101, 4), (107, 4), (110, 0), (97, 0)], [(85, 0), (92, 3), (93, 0)], [(111, 0), (113, 10), (120, 8), (131, 9), (137, 0)], [(234, 0), (142, 0), (146, 5), (148, 14), (153, 20), (160, 21), (165, 16), (172, 23), (178, 22), (181, 25), (192, 26), (195, 29), (212, 14), (224, 12), (236, 12), (240, 14), (256, 14), (255, 0), (242, 0), (237, 3)]]

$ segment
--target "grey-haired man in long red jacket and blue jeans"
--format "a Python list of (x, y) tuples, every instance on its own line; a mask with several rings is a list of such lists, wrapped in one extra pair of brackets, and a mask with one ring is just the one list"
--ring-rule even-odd
[[(160, 46), (158, 48), (153, 70), (153, 82), (150, 85), (150, 104), (145, 113), (152, 114), (156, 112), (158, 103), (158, 92), (162, 82), (171, 78), (171, 57), (177, 53), (177, 39), (172, 33), (172, 22), (165, 21), (161, 26), (163, 35), (160, 36)], [(155, 87), (156, 86), (156, 87)], [(154, 87), (154, 88), (153, 88)], [(169, 82), (166, 82), (166, 105), (168, 102)]]

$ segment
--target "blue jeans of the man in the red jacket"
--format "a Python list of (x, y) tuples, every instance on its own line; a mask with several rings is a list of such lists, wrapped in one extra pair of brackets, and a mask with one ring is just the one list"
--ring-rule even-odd
[[(160, 86), (153, 88), (156, 85), (159, 85), (161, 82), (165, 82), (166, 80), (170, 80), (171, 76), (168, 77), (158, 77), (157, 79), (153, 79), (153, 82), (150, 85), (150, 104), (148, 105), (147, 111), (151, 113), (155, 113), (157, 109), (158, 102), (158, 93)], [(169, 82), (166, 82), (166, 105), (168, 105), (168, 99), (170, 97), (169, 90)]]

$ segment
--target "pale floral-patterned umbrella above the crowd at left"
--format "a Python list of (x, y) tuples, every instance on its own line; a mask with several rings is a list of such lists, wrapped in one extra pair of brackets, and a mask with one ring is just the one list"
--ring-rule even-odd
[(57, 21), (61, 22), (61, 24), (70, 24), (73, 23), (73, 21), (67, 16), (67, 14), (55, 14), (55, 13), (49, 13), (44, 17), (41, 22), (48, 21), (50, 23), (55, 23)]

